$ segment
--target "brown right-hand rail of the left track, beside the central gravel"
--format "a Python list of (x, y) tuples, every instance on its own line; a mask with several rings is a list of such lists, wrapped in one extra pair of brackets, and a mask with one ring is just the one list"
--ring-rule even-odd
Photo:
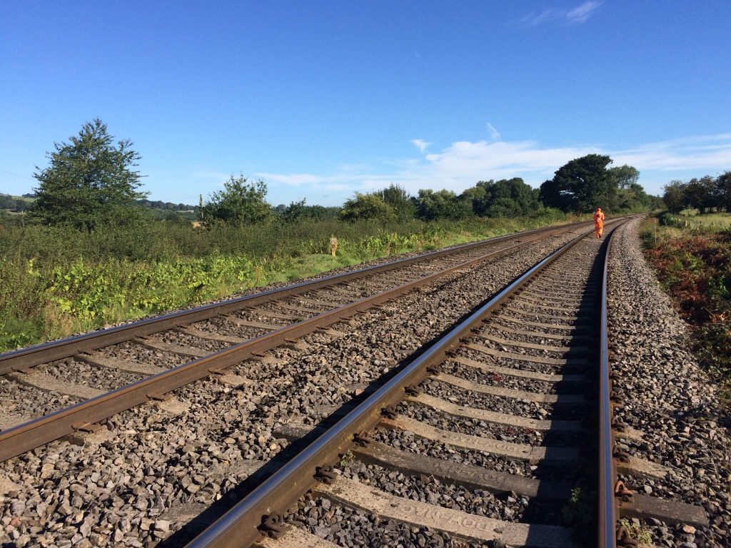
[(216, 351), (208, 356), (195, 359), (192, 362), (178, 365), (162, 373), (143, 378), (140, 381), (127, 384), (124, 387), (106, 392), (89, 400), (84, 400), (73, 406), (41, 416), (8, 430), (3, 430), (0, 432), (0, 462), (16, 457), (43, 444), (47, 444), (49, 441), (56, 440), (64, 435), (74, 433), (77, 430), (88, 429), (90, 425), (94, 425), (96, 422), (146, 403), (149, 400), (164, 399), (164, 395), (174, 389), (198, 381), (201, 378), (220, 374), (232, 365), (243, 362), (251, 357), (257, 357), (262, 352), (286, 343), (293, 343), (295, 339), (303, 335), (335, 324), (338, 321), (347, 319), (369, 308), (374, 308), (389, 300), (393, 300), (401, 294), (410, 292), (417, 286), (423, 286), (438, 278), (442, 278), (444, 275), (472, 267), (491, 257), (529, 246), (534, 240), (526, 240), (508, 246), (507, 248), (491, 251), (476, 259), (471, 259), (440, 270), (439, 272), (423, 276), (422, 278), (417, 278), (417, 280), (404, 283), (395, 288), (386, 289), (385, 291), (364, 297), (363, 299), (339, 308), (298, 321), (287, 327), (282, 327), (279, 330), (230, 346), (227, 349)]

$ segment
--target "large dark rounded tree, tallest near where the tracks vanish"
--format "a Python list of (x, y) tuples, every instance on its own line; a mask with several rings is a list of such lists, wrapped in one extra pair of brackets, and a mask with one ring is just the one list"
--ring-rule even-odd
[(587, 154), (559, 168), (540, 188), (540, 199), (550, 208), (589, 211), (607, 208), (616, 197), (617, 182), (607, 170), (609, 156)]

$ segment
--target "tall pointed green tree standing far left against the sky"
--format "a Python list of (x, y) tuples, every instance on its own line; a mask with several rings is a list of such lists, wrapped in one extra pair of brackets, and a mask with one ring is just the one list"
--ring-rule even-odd
[(139, 192), (140, 172), (134, 170), (140, 155), (132, 141), (119, 140), (107, 133), (99, 118), (83, 125), (69, 142), (54, 143), (55, 152), (46, 153), (50, 166), (37, 171), (39, 187), (31, 208), (34, 218), (48, 224), (72, 224), (87, 230), (108, 222), (119, 208), (132, 208)]

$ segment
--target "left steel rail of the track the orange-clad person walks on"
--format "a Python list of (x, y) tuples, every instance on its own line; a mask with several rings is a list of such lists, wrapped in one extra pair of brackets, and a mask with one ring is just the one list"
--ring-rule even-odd
[(262, 536), (260, 526), (265, 520), (287, 511), (298, 501), (314, 484), (314, 473), (319, 467), (335, 462), (339, 454), (344, 454), (352, 448), (352, 438), (356, 433), (371, 430), (376, 426), (382, 408), (403, 400), (405, 387), (422, 381), (430, 365), (442, 362), (447, 357), (447, 352), (458, 345), (461, 338), (488, 319), (518, 289), (589, 234), (591, 232), (584, 232), (553, 251), (515, 278), (465, 320), (452, 327), (417, 359), (402, 368), (333, 427), (265, 479), (219, 520), (202, 531), (186, 545), (186, 548), (240, 548), (258, 541)]

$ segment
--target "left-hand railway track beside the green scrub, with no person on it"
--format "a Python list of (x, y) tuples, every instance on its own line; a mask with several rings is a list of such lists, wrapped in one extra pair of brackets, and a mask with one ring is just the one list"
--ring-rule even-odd
[[(0, 462), (64, 435), (93, 432), (110, 416), (167, 400), (202, 378), (239, 386), (246, 378), (227, 373), (232, 365), (583, 227), (494, 238), (2, 354), (0, 376), (10, 386), (0, 403)], [(15, 414), (20, 400), (37, 402), (42, 416)]]

